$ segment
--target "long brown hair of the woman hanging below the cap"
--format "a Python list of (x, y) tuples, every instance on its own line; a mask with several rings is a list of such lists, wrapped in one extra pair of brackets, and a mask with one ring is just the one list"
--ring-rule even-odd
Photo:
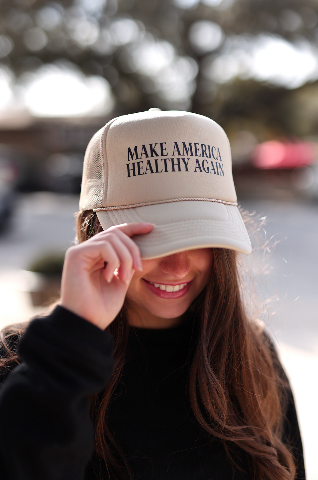
[[(92, 210), (79, 212), (79, 242), (100, 231)], [(282, 442), (284, 399), (289, 385), (270, 339), (247, 318), (236, 257), (232, 250), (214, 249), (210, 279), (195, 303), (200, 332), (190, 369), (191, 407), (202, 428), (224, 442), (230, 457), (231, 445), (248, 454), (255, 480), (294, 480), (293, 455)], [(14, 334), (19, 329), (23, 331), (19, 325)], [(125, 307), (107, 330), (114, 336), (115, 367), (104, 391), (90, 399), (91, 416), (95, 451), (105, 460), (109, 477), (122, 480), (126, 477), (114, 453), (120, 454), (120, 445), (108, 427), (107, 407), (125, 362), (129, 336)], [(7, 328), (5, 333), (10, 338), (13, 331)], [(7, 344), (5, 336), (2, 342)], [(8, 367), (14, 360), (18, 361), (16, 352), (10, 354)], [(231, 458), (235, 463), (235, 456)], [(129, 474), (123, 456), (120, 462)]]

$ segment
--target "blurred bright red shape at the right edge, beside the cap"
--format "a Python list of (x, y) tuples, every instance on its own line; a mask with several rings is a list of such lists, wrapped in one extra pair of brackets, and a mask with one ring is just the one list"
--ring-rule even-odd
[(317, 156), (313, 142), (283, 143), (277, 140), (257, 145), (253, 165), (257, 168), (295, 168), (311, 165)]

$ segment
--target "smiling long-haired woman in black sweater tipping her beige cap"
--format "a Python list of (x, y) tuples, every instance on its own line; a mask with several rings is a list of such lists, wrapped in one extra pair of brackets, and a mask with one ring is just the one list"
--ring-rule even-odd
[(111, 120), (80, 209), (59, 306), (3, 338), (4, 478), (304, 479), (288, 381), (241, 300), (251, 245), (221, 127)]

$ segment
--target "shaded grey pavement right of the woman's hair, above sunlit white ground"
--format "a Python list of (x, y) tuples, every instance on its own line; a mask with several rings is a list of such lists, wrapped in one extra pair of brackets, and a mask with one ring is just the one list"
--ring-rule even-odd
[[(257, 276), (269, 310), (262, 315), (265, 324), (278, 342), (318, 353), (317, 204), (245, 201), (242, 207), (267, 216), (272, 253), (263, 252), (262, 266), (269, 265)], [(265, 233), (259, 237), (261, 244)]]

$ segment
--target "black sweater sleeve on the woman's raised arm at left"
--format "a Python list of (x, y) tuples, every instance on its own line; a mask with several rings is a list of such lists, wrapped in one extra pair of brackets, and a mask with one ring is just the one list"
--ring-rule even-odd
[(21, 339), (0, 390), (2, 480), (82, 480), (93, 452), (89, 395), (109, 381), (112, 336), (58, 306)]

